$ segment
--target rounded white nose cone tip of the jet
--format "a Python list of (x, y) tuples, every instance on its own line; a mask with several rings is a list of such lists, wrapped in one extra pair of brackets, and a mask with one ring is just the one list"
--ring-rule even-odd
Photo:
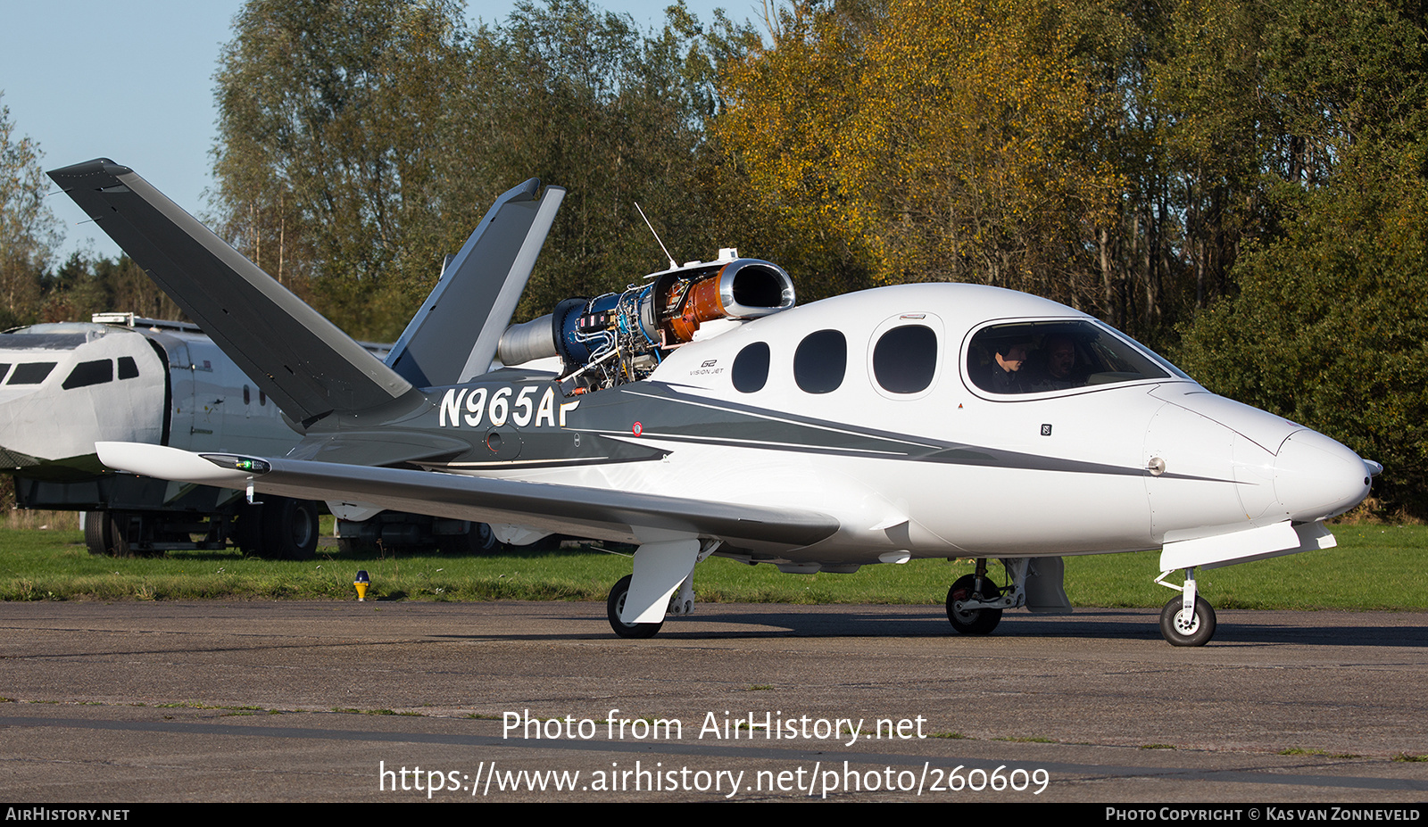
[(1342, 514), (1368, 496), (1369, 474), (1354, 451), (1311, 431), (1294, 431), (1274, 460), (1274, 493), (1291, 520)]

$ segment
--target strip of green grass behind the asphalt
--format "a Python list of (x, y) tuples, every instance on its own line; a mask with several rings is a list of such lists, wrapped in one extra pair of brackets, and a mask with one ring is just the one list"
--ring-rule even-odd
[[(1428, 608), (1428, 527), (1337, 526), (1339, 547), (1200, 571), (1217, 608)], [(628, 551), (628, 550), (625, 550)], [(243, 558), (237, 551), (170, 551), (153, 558), (94, 557), (79, 531), (0, 530), (0, 600), (354, 600), (358, 568), (368, 600), (604, 600), (630, 558), (595, 548), (491, 557), (364, 554), (320, 548), (311, 561)], [(695, 571), (710, 603), (941, 604), (970, 561), (917, 560), (855, 574), (783, 574), (771, 566), (710, 558)], [(1001, 567), (992, 567), (1001, 578)], [(1067, 558), (1075, 606), (1158, 607), (1158, 553)], [(1178, 581), (1178, 576), (1172, 577)]]

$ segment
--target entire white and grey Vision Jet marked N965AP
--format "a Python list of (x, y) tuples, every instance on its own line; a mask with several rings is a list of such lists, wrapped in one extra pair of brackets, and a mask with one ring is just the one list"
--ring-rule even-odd
[[(110, 467), (207, 486), (637, 544), (623, 637), (693, 608), (715, 554), (790, 573), (974, 558), (961, 633), (1065, 613), (1061, 558), (1161, 550), (1177, 646), (1215, 614), (1195, 570), (1334, 546), (1378, 463), (1218, 397), (1100, 320), (1010, 290), (907, 284), (795, 306), (721, 250), (623, 293), (510, 319), (564, 197), (501, 196), (386, 361), (133, 170), (50, 173), (301, 436), (286, 456), (101, 443)], [(1002, 564), (1001, 584), (988, 561)], [(1168, 581), (1177, 576), (1181, 583)]]

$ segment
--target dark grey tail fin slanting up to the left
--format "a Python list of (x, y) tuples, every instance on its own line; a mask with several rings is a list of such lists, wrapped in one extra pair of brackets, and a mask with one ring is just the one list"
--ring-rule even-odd
[(49, 174), (304, 430), (413, 390), (131, 169), (96, 159)]

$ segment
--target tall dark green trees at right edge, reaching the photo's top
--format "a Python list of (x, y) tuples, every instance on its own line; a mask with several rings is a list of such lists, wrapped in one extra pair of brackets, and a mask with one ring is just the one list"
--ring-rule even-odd
[(1285, 121), (1279, 231), (1185, 330), (1211, 390), (1381, 461), (1375, 494), (1428, 511), (1428, 29), (1391, 3), (1288, 4), (1261, 56)]

